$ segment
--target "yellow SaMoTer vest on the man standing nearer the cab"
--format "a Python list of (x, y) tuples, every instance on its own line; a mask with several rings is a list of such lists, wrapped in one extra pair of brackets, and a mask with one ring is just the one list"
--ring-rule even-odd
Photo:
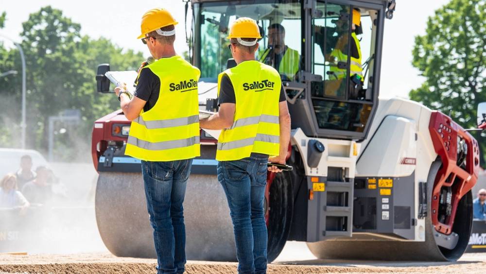
[(239, 160), (252, 152), (278, 155), (282, 82), (277, 70), (258, 61), (242, 62), (219, 74), (218, 95), (225, 74), (235, 90), (236, 110), (233, 125), (219, 136), (216, 160)]

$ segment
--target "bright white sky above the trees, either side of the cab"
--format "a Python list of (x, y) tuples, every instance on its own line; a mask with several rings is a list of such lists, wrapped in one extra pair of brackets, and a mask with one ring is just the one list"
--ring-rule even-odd
[[(19, 40), (21, 23), (40, 7), (51, 5), (81, 24), (82, 34), (104, 36), (126, 49), (149, 52), (136, 37), (140, 32), (140, 17), (154, 7), (167, 8), (179, 24), (176, 27), (176, 51), (187, 50), (184, 32), (184, 4), (182, 0), (0, 0), (0, 13), (7, 12), (5, 28), (0, 34)], [(385, 21), (382, 75), (382, 97), (408, 98), (408, 92), (421, 85), (423, 78), (411, 65), (414, 37), (425, 34), (427, 17), (449, 0), (397, 0), (392, 20)], [(1, 38), (0, 38), (1, 39)], [(7, 46), (9, 43), (5, 43)]]

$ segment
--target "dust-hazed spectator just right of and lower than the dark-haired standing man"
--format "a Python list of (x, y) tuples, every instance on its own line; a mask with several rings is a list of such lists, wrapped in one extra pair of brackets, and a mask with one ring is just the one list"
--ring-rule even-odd
[(52, 186), (49, 184), (49, 170), (39, 166), (37, 176), (22, 188), (22, 193), (32, 204), (45, 204), (52, 199)]

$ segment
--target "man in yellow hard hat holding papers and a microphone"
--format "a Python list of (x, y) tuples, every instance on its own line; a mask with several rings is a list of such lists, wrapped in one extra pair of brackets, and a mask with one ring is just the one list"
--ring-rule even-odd
[(165, 9), (142, 16), (141, 38), (155, 62), (139, 70), (133, 98), (117, 87), (132, 121), (125, 154), (141, 160), (157, 273), (185, 271), (182, 203), (192, 159), (200, 155), (197, 81), (201, 72), (174, 50), (177, 22)]

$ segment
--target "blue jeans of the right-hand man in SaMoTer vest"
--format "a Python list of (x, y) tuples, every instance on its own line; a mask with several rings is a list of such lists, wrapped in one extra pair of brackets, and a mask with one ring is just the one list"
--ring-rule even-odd
[(263, 199), (268, 157), (260, 155), (218, 163), (218, 180), (228, 200), (240, 274), (260, 274), (267, 270)]

